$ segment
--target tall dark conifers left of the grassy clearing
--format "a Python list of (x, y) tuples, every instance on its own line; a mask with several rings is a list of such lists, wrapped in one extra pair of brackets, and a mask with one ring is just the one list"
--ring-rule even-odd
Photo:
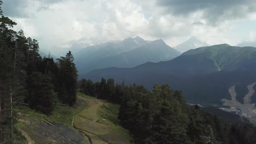
[[(2, 1), (0, 1), (2, 5)], [(57, 59), (40, 57), (36, 39), (26, 38), (0, 7), (0, 143), (15, 143), (14, 106), (28, 104), (46, 115), (54, 103), (73, 105), (76, 99), (77, 69), (69, 51)]]

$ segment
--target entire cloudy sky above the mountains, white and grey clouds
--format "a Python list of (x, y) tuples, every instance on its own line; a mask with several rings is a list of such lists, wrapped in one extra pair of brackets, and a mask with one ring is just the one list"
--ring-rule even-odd
[(256, 40), (254, 0), (3, 0), (3, 12), (42, 49), (140, 36), (176, 46)]

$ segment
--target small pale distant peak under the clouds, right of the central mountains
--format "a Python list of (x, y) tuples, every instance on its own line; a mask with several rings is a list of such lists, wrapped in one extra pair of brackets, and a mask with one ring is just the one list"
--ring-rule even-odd
[(191, 37), (187, 41), (184, 41), (183, 43), (174, 47), (174, 49), (183, 53), (183, 52), (186, 52), (188, 50), (196, 49), (196, 48), (202, 47), (202, 46), (208, 46), (208, 44), (199, 40), (199, 39), (197, 39), (196, 37)]

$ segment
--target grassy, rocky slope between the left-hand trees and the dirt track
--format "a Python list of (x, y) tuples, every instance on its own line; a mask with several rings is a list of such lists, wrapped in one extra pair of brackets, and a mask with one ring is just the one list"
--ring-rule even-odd
[(72, 127), (72, 118), (86, 108), (78, 97), (73, 107), (56, 105), (52, 115), (45, 116), (28, 107), (16, 109), (16, 127), (29, 143), (90, 143), (89, 137)]

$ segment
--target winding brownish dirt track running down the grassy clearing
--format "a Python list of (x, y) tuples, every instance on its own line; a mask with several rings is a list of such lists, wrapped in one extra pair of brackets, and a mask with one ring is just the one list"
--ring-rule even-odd
[(84, 100), (88, 107), (75, 116), (75, 128), (89, 136), (93, 144), (130, 143), (116, 125), (98, 117), (97, 111), (104, 102), (92, 97), (85, 97)]

